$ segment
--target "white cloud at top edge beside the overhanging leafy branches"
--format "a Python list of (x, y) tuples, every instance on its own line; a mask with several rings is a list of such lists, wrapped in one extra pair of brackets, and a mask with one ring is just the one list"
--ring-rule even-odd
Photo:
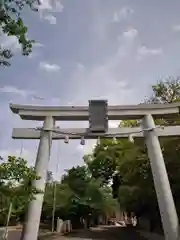
[(63, 5), (60, 0), (41, 0), (38, 6), (40, 18), (48, 20), (50, 24), (56, 24), (56, 17), (52, 13), (63, 11)]

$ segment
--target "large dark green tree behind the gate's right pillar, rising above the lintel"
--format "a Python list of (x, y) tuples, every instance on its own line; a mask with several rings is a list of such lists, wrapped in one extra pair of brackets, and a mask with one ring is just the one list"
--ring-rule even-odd
[[(179, 77), (164, 79), (152, 86), (152, 96), (148, 103), (173, 103), (180, 100)], [(177, 125), (179, 119), (157, 119), (158, 125)], [(177, 211), (179, 205), (179, 138), (160, 139), (167, 172), (175, 198)], [(118, 170), (123, 176), (123, 185), (119, 187), (119, 202), (128, 211), (147, 216), (151, 221), (160, 222), (157, 199), (147, 154), (134, 156), (134, 160), (121, 161)], [(151, 201), (149, 201), (151, 199)]]

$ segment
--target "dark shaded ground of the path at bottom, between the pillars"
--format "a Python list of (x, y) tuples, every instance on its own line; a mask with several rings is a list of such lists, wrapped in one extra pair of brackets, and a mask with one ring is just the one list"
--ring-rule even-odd
[(124, 227), (100, 227), (89, 230), (81, 230), (66, 235), (69, 239), (97, 239), (97, 240), (145, 240), (134, 228)]

